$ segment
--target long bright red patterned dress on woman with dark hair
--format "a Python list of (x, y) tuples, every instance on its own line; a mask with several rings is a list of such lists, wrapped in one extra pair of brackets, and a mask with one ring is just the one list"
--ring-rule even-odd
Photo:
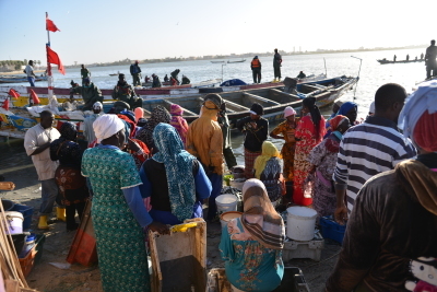
[(294, 154), (293, 201), (297, 205), (308, 206), (312, 203), (311, 198), (304, 197), (304, 182), (311, 166), (307, 160), (309, 152), (321, 142), (326, 132), (323, 117), (321, 117), (319, 124), (319, 136), (316, 138), (316, 127), (309, 114), (300, 119), (296, 129), (295, 137), (299, 140), (296, 142)]

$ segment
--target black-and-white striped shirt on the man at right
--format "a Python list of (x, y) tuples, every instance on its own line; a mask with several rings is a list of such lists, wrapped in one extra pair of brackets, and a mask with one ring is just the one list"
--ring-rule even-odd
[(367, 179), (415, 155), (414, 147), (389, 119), (368, 117), (364, 124), (349, 129), (340, 144), (333, 174), (336, 186), (346, 189), (347, 211), (352, 212)]

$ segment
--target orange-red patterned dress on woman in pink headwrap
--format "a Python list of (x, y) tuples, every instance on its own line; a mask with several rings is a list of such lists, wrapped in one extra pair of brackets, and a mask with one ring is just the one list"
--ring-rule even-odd
[(284, 120), (276, 128), (273, 129), (273, 135), (280, 135), (285, 139), (285, 143), (282, 145), (281, 155), (284, 160), (284, 171), (283, 175), (285, 180), (293, 182), (293, 165), (294, 165), (294, 153), (296, 149), (296, 125), (299, 122), (299, 118), (295, 118), (295, 125), (290, 126), (290, 124)]

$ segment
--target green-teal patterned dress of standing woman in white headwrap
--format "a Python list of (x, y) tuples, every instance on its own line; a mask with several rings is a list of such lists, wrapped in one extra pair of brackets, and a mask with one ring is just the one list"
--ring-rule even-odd
[(82, 174), (94, 190), (92, 219), (104, 291), (150, 291), (144, 235), (122, 192), (142, 184), (132, 156), (114, 148), (87, 149)]

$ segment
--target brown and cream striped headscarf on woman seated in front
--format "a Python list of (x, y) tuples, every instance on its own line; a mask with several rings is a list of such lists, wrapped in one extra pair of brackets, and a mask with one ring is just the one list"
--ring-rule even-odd
[(243, 185), (244, 213), (241, 223), (262, 246), (282, 249), (285, 226), (282, 217), (274, 210), (261, 180), (251, 178)]

